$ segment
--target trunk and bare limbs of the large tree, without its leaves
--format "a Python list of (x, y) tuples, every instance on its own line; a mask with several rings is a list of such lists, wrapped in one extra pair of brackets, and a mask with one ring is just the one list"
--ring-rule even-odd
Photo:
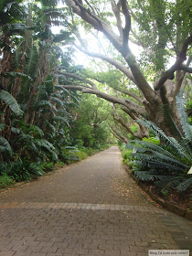
[[(183, 64), (187, 59), (187, 48), (188, 45), (192, 42), (192, 36), (189, 35), (183, 38), (182, 43), (180, 43), (180, 48), (176, 49), (176, 62), (170, 69), (165, 70), (163, 61), (164, 56), (163, 54), (160, 54), (162, 50), (165, 49), (169, 37), (168, 34), (165, 35), (164, 33), (164, 27), (166, 26), (164, 19), (165, 9), (162, 9), (164, 13), (162, 13), (162, 16), (159, 16), (160, 3), (158, 6), (155, 5), (155, 3), (153, 4), (155, 14), (154, 28), (155, 33), (158, 33), (158, 41), (156, 43), (155, 52), (155, 58), (158, 57), (157, 60), (155, 60), (157, 78), (155, 79), (153, 89), (144, 77), (142, 69), (140, 69), (131, 49), (129, 48), (128, 42), (130, 40), (131, 33), (131, 16), (135, 19), (136, 22), (139, 21), (137, 20), (136, 16), (133, 15), (133, 11), (131, 10), (127, 1), (120, 0), (117, 4), (115, 1), (111, 1), (112, 11), (114, 17), (116, 18), (116, 26), (119, 31), (119, 35), (115, 34), (115, 30), (109, 25), (109, 23), (102, 20), (99, 16), (96, 16), (95, 13), (92, 13), (89, 8), (83, 5), (83, 1), (67, 0), (67, 3), (76, 15), (80, 16), (92, 27), (94, 27), (94, 29), (100, 31), (105, 37), (108, 38), (113, 47), (116, 48), (116, 50), (122, 55), (124, 61), (127, 64), (127, 67), (105, 55), (90, 52), (87, 47), (84, 47), (84, 45), (82, 45), (84, 48), (80, 48), (80, 46), (76, 47), (87, 55), (107, 61), (117, 69), (121, 70), (123, 74), (129, 80), (132, 80), (135, 86), (142, 92), (143, 99), (138, 99), (137, 96), (131, 95), (128, 91), (127, 94), (133, 97), (135, 100), (139, 101), (140, 104), (135, 104), (133, 101), (126, 101), (122, 98), (113, 97), (109, 94), (99, 91), (95, 85), (93, 86), (91, 84), (91, 82), (88, 82), (89, 86), (87, 88), (85, 88), (83, 85), (78, 87), (75, 87), (75, 85), (65, 85), (65, 87), (78, 89), (84, 93), (93, 93), (107, 101), (121, 104), (130, 116), (134, 116), (134, 118), (132, 117), (133, 120), (137, 120), (143, 116), (159, 126), (166, 135), (174, 136), (179, 139), (182, 129), (180, 119), (176, 111), (176, 93), (180, 91), (182, 87), (182, 82), (185, 78), (186, 72), (192, 72), (192, 68), (189, 68), (191, 60), (190, 58), (187, 60), (187, 64)], [(122, 16), (125, 21), (124, 27)], [(136, 38), (138, 39), (137, 43), (146, 49), (144, 42), (141, 41), (141, 38)], [(156, 38), (154, 37), (152, 40), (155, 41)], [(174, 44), (172, 38), (170, 40), (171, 43)], [(150, 49), (147, 50), (150, 51)], [(173, 79), (175, 78), (175, 74), (176, 82), (174, 83)], [(178, 129), (180, 129), (180, 132), (177, 130), (176, 125)], [(142, 132), (143, 129), (140, 130), (141, 133), (145, 133), (145, 131)], [(143, 136), (143, 134), (141, 136)]]

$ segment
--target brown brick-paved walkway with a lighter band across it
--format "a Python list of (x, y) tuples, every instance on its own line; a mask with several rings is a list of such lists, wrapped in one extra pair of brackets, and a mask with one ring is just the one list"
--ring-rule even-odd
[(0, 256), (144, 256), (191, 248), (191, 222), (155, 207), (117, 147), (0, 193)]

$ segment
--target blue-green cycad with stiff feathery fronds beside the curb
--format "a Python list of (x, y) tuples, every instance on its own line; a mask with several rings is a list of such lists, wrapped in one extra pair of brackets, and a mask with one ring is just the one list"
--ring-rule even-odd
[(187, 122), (185, 100), (181, 93), (176, 96), (176, 104), (183, 129), (179, 141), (166, 136), (155, 123), (140, 120), (159, 137), (161, 144), (131, 141), (126, 146), (133, 150), (130, 163), (133, 175), (140, 180), (153, 182), (156, 187), (161, 187), (164, 194), (172, 189), (183, 192), (192, 185), (192, 177), (187, 174), (192, 165), (192, 126)]

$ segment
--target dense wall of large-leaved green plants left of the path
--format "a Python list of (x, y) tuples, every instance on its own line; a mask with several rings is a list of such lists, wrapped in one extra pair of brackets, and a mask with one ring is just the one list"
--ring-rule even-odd
[[(76, 69), (70, 48), (68, 13), (56, 2), (5, 0), (0, 6), (0, 186), (29, 180), (56, 163), (77, 161), (94, 150), (78, 150), (80, 94), (59, 82), (59, 67)], [(59, 34), (51, 27), (62, 25)], [(80, 124), (81, 125), (81, 124)], [(99, 125), (100, 126), (100, 125)], [(71, 130), (73, 128), (73, 132)], [(100, 129), (100, 127), (98, 127)], [(102, 130), (94, 131), (94, 140)], [(103, 133), (104, 134), (104, 133)], [(82, 138), (84, 139), (84, 138)], [(94, 147), (88, 138), (87, 146)], [(107, 135), (100, 143), (106, 142)], [(90, 140), (90, 141), (89, 141)]]

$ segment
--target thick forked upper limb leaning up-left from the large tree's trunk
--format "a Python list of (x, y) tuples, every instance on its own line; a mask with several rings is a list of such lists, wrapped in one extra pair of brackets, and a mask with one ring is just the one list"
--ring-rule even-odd
[[(122, 55), (133, 73), (133, 78), (137, 87), (144, 93), (144, 97), (147, 101), (153, 102), (156, 100), (155, 91), (152, 90), (148, 82), (145, 80), (144, 75), (139, 68), (136, 59), (133, 56), (130, 48), (128, 47), (130, 25), (130, 15), (125, 0), (122, 0), (123, 15), (125, 16), (125, 27), (124, 27), (124, 40), (117, 36), (106, 22), (101, 20), (98, 16), (91, 14), (91, 11), (86, 9), (77, 0), (67, 0), (67, 3), (73, 8), (73, 11), (85, 21), (91, 24), (94, 28), (101, 31), (112, 43), (113, 47), (116, 48)], [(124, 43), (126, 42), (126, 47)]]

